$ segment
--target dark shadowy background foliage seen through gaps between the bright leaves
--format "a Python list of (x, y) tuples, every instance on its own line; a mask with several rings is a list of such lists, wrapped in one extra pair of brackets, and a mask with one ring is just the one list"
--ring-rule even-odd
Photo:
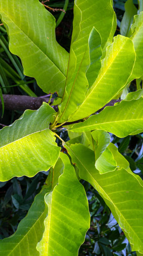
[[(50, 0), (45, 4), (51, 8), (62, 8), (68, 3), (66, 14), (63, 12), (52, 12), (58, 20), (56, 37), (68, 52), (72, 36), (73, 6), (74, 0)], [(120, 24), (124, 13), (126, 0), (114, 0), (113, 6), (117, 15), (116, 34), (120, 33)], [(137, 0), (133, 3), (138, 7)], [(132, 82), (128, 91), (136, 89), (136, 82)], [(8, 37), (3, 26), (0, 26), (0, 97), (2, 94), (43, 96), (44, 93), (37, 86), (35, 79), (26, 77), (23, 74), (20, 59), (8, 50)], [(56, 97), (56, 94), (53, 95)], [(3, 108), (4, 110), (4, 108)], [(0, 128), (10, 125), (20, 117), (22, 112), (4, 110), (2, 117), (0, 113)], [(61, 138), (67, 141), (67, 132), (59, 132)], [(112, 136), (112, 142), (116, 143), (118, 150), (130, 163), (131, 170), (143, 178), (143, 134), (118, 138)], [(61, 142), (58, 141), (59, 146)], [(135, 162), (134, 162), (134, 161)], [(0, 239), (12, 235), (17, 225), (25, 217), (32, 204), (35, 195), (40, 191), (45, 182), (48, 172), (40, 172), (33, 178), (13, 178), (8, 182), (0, 182)], [(81, 181), (86, 190), (89, 200), (91, 214), (91, 227), (86, 234), (84, 244), (79, 250), (79, 255), (136, 255), (131, 252), (131, 247), (125, 238), (123, 231), (119, 228), (111, 211), (98, 192), (88, 182)]]

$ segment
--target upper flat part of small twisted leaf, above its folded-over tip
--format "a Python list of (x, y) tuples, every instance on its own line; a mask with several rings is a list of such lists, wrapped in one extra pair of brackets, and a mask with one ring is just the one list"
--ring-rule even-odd
[(109, 145), (110, 135), (102, 130), (93, 131), (91, 135), (94, 138), (95, 160), (97, 160)]

